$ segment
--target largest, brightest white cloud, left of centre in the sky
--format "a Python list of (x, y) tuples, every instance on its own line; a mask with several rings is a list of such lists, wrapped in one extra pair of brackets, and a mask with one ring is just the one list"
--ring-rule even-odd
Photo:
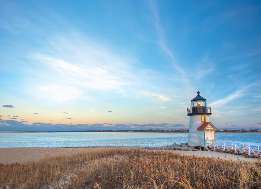
[(85, 94), (86, 89), (123, 93), (124, 86), (134, 83), (137, 77), (132, 76), (128, 65), (128, 62), (133, 60), (126, 60), (122, 55), (110, 52), (109, 47), (108, 50), (104, 46), (98, 47), (97, 42), (92, 43), (79, 33), (75, 33), (73, 37), (75, 40), (59, 37), (56, 41), (64, 51), (68, 51), (70, 47), (69, 53), (72, 56), (78, 54), (77, 60), (73, 62), (61, 59), (62, 55), (32, 55), (59, 75), (53, 82), (57, 84), (40, 86), (39, 93), (44, 92), (44, 95), (62, 103)]

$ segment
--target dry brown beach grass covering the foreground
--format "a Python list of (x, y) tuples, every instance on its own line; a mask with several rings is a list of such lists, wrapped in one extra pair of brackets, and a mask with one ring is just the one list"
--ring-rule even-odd
[(0, 188), (261, 188), (261, 163), (111, 150), (0, 164)]

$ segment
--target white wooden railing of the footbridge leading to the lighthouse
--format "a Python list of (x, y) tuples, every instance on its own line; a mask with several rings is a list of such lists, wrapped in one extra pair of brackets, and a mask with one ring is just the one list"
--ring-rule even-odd
[(205, 146), (213, 149), (223, 150), (223, 151), (227, 150), (227, 151), (233, 151), (235, 153), (248, 154), (248, 156), (250, 155), (261, 156), (260, 143), (206, 139)]

